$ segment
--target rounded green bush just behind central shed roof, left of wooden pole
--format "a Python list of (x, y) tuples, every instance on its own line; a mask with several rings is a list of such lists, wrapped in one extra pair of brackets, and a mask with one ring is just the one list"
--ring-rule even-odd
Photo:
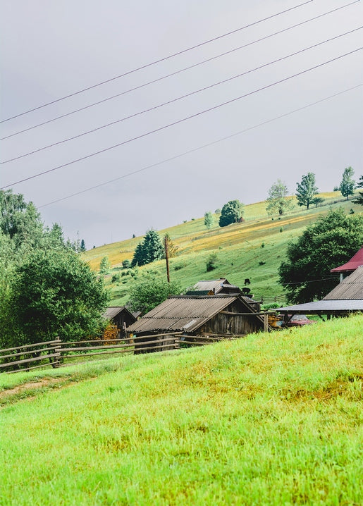
[(131, 311), (141, 311), (145, 314), (161, 304), (169, 295), (179, 295), (182, 292), (178, 281), (142, 281), (130, 290), (128, 307)]

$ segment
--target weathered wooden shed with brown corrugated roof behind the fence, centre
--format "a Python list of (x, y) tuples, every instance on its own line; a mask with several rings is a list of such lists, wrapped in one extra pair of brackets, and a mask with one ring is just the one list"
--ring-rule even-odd
[(248, 297), (240, 295), (178, 295), (168, 297), (127, 331), (137, 338), (173, 332), (242, 336), (264, 330), (264, 319), (256, 313)]

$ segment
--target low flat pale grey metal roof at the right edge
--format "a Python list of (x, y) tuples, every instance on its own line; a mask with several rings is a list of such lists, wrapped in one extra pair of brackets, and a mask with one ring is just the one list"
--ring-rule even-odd
[(318, 300), (306, 304), (281, 307), (276, 311), (289, 314), (333, 314), (363, 311), (363, 300)]

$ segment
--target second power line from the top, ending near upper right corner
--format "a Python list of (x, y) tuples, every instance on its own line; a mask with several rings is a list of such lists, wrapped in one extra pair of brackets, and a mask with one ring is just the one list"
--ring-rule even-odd
[[(115, 95), (112, 95), (111, 97), (106, 97), (105, 99), (99, 100), (97, 102), (93, 102), (92, 104), (88, 104), (87, 106), (80, 107), (79, 109), (75, 109), (75, 110), (70, 111), (70, 112), (65, 113), (65, 114), (61, 114), (60, 116), (56, 116), (55, 118), (51, 118), (50, 120), (43, 121), (42, 123), (37, 123), (37, 125), (32, 125), (30, 127), (24, 128), (23, 130), (19, 130), (18, 132), (14, 132), (14, 133), (12, 133), (10, 135), (6, 135), (5, 137), (0, 137), (0, 141), (1, 140), (9, 139), (10, 137), (14, 137), (15, 135), (19, 135), (20, 133), (28, 132), (29, 130), (33, 130), (34, 128), (38, 128), (40, 126), (47, 125), (48, 123), (52, 123), (53, 121), (58, 121), (59, 119), (66, 118), (67, 116), (71, 116), (72, 114), (79, 113), (81, 111), (85, 111), (86, 109), (90, 109), (91, 107), (97, 106), (99, 104), (104, 104), (104, 102), (106, 102), (106, 101), (109, 101), (109, 100), (112, 100), (112, 99), (116, 99), (118, 97), (121, 97), (121, 96), (123, 96), (125, 94), (128, 94), (130, 92), (134, 92), (136, 90), (140, 90), (141, 88), (146, 87), (148, 85), (152, 85), (155, 82), (159, 82), (159, 81), (164, 80), (166, 78), (171, 78), (174, 75), (178, 75), (180, 73), (185, 72), (185, 70), (190, 70), (190, 69), (195, 68), (195, 67), (197, 67), (199, 65), (202, 65), (204, 63), (209, 63), (210, 61), (216, 60), (217, 58), (221, 58), (221, 56), (226, 56), (226, 55), (231, 54), (231, 53), (233, 53), (235, 51), (239, 51), (240, 49), (244, 49), (245, 47), (252, 46), (252, 44), (257, 44), (257, 42), (262, 42), (263, 40), (266, 40), (266, 39), (269, 39), (271, 37), (274, 37), (275, 35), (280, 35), (281, 33), (287, 32), (288, 30), (292, 30), (293, 28), (305, 25), (306, 23), (309, 23), (310, 21), (314, 21), (316, 19), (319, 19), (319, 18), (322, 18), (324, 16), (327, 16), (328, 14), (334, 13), (336, 11), (340, 11), (340, 9), (342, 9), (342, 8), (346, 8), (346, 7), (349, 7), (349, 6), (353, 5), (353, 4), (357, 4), (359, 1), (360, 0), (352, 1), (350, 4), (346, 4), (344, 6), (340, 6), (338, 8), (334, 8), (331, 11), (327, 11), (325, 13), (319, 14), (319, 16), (314, 16), (314, 18), (309, 18), (308, 20), (305, 20), (305, 21), (302, 21), (300, 23), (297, 23), (296, 25), (291, 25), (291, 26), (289, 26), (287, 28), (284, 28), (283, 30), (278, 30), (278, 32), (273, 32), (270, 35), (266, 35), (265, 37), (261, 37), (259, 39), (256, 39), (256, 40), (252, 41), (252, 42), (247, 42), (247, 44), (243, 44), (242, 46), (235, 47), (233, 49), (230, 49), (229, 51), (225, 51), (224, 53), (217, 54), (216, 56), (212, 56), (211, 58), (207, 58), (206, 60), (199, 61), (198, 63), (195, 63), (194, 65), (190, 65), (188, 67), (181, 68), (180, 70), (176, 70), (175, 72), (172, 72), (170, 74), (163, 75), (163, 76), (161, 76), (161, 78), (157, 78), (157, 79), (154, 79), (152, 81), (144, 82), (144, 84), (135, 86), (133, 88), (130, 88), (130, 90), (125, 90), (123, 92), (120, 92), (120, 93), (117, 93)], [(9, 119), (11, 119), (11, 118), (9, 118)]]

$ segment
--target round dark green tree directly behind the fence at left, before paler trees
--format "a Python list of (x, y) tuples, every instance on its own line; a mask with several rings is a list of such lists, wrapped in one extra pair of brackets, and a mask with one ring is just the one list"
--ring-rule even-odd
[(57, 335), (78, 340), (98, 333), (103, 325), (104, 285), (75, 252), (30, 251), (15, 267), (9, 292), (14, 346)]

